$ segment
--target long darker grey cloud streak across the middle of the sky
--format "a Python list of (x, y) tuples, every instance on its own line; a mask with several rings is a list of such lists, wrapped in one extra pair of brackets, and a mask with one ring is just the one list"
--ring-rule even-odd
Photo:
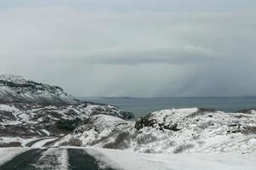
[[(54, 52), (55, 56), (66, 62), (84, 62), (91, 64), (195, 64), (216, 60), (211, 49), (200, 47), (177, 48), (105, 48), (87, 51)], [(71, 58), (73, 56), (73, 58)]]

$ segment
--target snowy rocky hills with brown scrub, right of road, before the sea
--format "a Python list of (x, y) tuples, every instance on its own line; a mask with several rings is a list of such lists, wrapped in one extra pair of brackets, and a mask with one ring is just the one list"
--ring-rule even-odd
[(58, 144), (74, 140), (84, 146), (145, 153), (252, 151), (256, 150), (256, 111), (172, 109), (150, 113), (137, 122), (98, 115)]

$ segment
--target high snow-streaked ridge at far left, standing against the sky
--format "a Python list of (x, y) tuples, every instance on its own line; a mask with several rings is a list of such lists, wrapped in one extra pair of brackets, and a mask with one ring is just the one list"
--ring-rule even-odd
[(62, 88), (33, 82), (24, 77), (0, 75), (0, 102), (76, 104)]

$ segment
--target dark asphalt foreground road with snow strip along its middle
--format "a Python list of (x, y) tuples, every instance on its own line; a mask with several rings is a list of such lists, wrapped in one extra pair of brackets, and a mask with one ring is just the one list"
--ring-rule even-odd
[(83, 149), (31, 149), (15, 156), (0, 166), (1, 170), (114, 170), (111, 167), (100, 168), (96, 158)]

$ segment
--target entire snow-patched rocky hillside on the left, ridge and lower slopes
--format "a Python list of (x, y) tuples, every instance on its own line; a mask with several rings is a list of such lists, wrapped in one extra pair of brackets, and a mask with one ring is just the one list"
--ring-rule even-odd
[(22, 138), (60, 136), (98, 114), (131, 119), (132, 113), (112, 105), (82, 102), (61, 88), (19, 76), (0, 76), (0, 135)]

